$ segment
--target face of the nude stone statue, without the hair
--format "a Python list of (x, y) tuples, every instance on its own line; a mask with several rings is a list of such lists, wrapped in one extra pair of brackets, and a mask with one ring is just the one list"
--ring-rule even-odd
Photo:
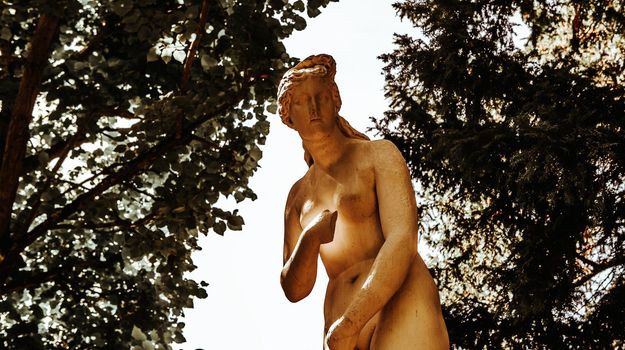
[(292, 90), (289, 126), (302, 138), (325, 134), (336, 126), (336, 108), (330, 87), (321, 78), (311, 77)]

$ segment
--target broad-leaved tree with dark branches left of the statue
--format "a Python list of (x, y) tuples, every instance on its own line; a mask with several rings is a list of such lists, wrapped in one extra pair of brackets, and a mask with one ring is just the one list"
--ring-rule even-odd
[(198, 234), (238, 230), (293, 60), (329, 0), (3, 0), (0, 347), (168, 348)]

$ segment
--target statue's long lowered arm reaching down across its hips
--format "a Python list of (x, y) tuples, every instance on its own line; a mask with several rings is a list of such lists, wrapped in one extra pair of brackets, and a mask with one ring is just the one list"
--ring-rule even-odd
[[(385, 242), (362, 288), (337, 321), (359, 332), (401, 287), (417, 255), (418, 218), (406, 162), (390, 141), (372, 142), (375, 188)], [(339, 326), (339, 325), (337, 325)]]

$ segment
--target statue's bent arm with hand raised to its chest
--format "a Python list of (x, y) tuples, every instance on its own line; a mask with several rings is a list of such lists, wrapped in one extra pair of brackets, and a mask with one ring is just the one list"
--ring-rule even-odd
[(319, 214), (310, 225), (302, 229), (299, 213), (294, 208), (293, 197), (297, 184), (291, 189), (284, 215), (284, 267), (280, 284), (287, 299), (297, 302), (308, 296), (317, 279), (319, 247), (327, 231), (334, 231), (336, 213), (327, 210)]

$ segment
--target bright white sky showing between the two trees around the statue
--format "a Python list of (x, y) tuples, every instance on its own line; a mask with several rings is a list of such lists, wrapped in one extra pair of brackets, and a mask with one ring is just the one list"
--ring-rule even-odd
[[(415, 33), (396, 17), (393, 2), (330, 3), (285, 43), (289, 54), (300, 59), (318, 53), (334, 56), (341, 115), (363, 132), (371, 126), (370, 116), (379, 118), (387, 109), (383, 64), (376, 57), (392, 51), (393, 33)], [(258, 200), (237, 206), (246, 222), (243, 231), (202, 237), (203, 250), (194, 255), (198, 269), (192, 276), (210, 284), (208, 298), (185, 312), (187, 343), (175, 349), (322, 348), (323, 265), (313, 292), (299, 303), (290, 303), (279, 283), (284, 203), (291, 185), (307, 169), (301, 141), (274, 116), (262, 149), (261, 168), (251, 179)]]

